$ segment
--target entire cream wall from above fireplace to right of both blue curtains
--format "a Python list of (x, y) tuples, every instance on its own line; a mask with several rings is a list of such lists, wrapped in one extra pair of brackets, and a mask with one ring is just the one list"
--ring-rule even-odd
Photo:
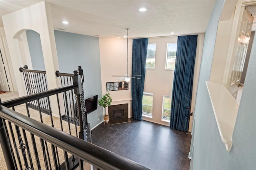
[[(194, 103), (196, 98), (196, 89), (198, 75), (200, 70), (202, 46), (204, 42), (204, 34), (198, 35), (198, 45), (196, 51), (196, 62), (194, 70), (194, 86), (192, 94), (191, 112), (194, 111)], [(156, 62), (154, 69), (146, 69), (144, 92), (153, 93), (153, 117), (144, 117), (142, 119), (152, 121), (162, 125), (169, 126), (169, 122), (162, 121), (162, 99), (163, 95), (172, 95), (172, 84), (174, 78), (174, 70), (165, 70), (167, 43), (177, 43), (177, 37), (159, 37), (149, 38), (148, 43), (156, 44)], [(102, 94), (106, 94), (106, 82), (118, 82), (117, 77), (112, 75), (123, 75), (126, 71), (126, 39), (125, 38), (104, 38), (100, 37), (100, 64), (102, 77)], [(132, 39), (128, 40), (128, 70), (131, 74), (132, 67)], [(111, 91), (110, 95), (113, 100), (121, 100), (131, 98), (131, 82), (129, 82), (129, 90)], [(193, 117), (191, 117), (191, 120)], [(190, 123), (189, 131), (192, 129)]]

